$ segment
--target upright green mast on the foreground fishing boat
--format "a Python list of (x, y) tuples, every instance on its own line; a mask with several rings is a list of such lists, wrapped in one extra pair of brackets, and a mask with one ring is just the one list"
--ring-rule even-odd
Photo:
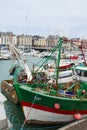
[(59, 78), (59, 65), (60, 65), (60, 58), (61, 58), (61, 49), (62, 49), (63, 39), (60, 37), (59, 39), (59, 46), (58, 46), (58, 56), (57, 56), (57, 72), (56, 72), (56, 84), (58, 85), (58, 78)]

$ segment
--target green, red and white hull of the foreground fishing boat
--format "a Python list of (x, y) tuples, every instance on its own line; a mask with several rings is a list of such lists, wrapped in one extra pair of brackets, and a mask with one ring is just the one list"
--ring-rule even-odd
[[(61, 124), (74, 121), (74, 115), (81, 114), (81, 119), (87, 116), (87, 100), (59, 97), (52, 93), (35, 91), (27, 85), (16, 86), (21, 106), (29, 123)], [(57, 104), (57, 107), (55, 105)]]

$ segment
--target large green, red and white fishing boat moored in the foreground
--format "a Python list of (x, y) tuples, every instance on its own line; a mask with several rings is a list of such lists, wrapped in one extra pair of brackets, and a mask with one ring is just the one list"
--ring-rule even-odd
[[(18, 62), (11, 67), (13, 87), (28, 123), (58, 124), (87, 116), (87, 82), (75, 76), (72, 82), (59, 83), (58, 81), (62, 43), (63, 39), (60, 38), (58, 45), (52, 51), (53, 53), (58, 49), (58, 58), (55, 62), (54, 74), (50, 79), (44, 71), (41, 71), (46, 67), (45, 61), (36, 71), (34, 69), (31, 71), (25, 61), (23, 66)], [(21, 56), (17, 51), (16, 56), (20, 61)], [(73, 66), (72, 70), (77, 76), (76, 66)], [(86, 67), (82, 69), (82, 71), (86, 70)]]

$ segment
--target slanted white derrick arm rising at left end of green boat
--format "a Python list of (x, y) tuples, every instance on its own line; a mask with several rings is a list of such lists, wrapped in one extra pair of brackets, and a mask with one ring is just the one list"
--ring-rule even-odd
[(10, 49), (10, 51), (12, 53), (13, 60), (15, 60), (15, 59), (18, 60), (20, 66), (23, 67), (25, 73), (27, 74), (27, 80), (31, 81), (32, 80), (32, 74), (31, 74), (31, 70), (29, 69), (29, 67), (28, 67), (28, 65), (26, 63), (26, 59), (24, 59), (21, 56), (18, 49), (14, 45), (10, 44), (9, 49)]

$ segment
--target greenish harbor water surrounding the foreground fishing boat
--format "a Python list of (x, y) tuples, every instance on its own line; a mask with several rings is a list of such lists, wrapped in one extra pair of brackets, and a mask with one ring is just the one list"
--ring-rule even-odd
[[(31, 67), (33, 63), (38, 63), (38, 57), (27, 56), (27, 63)], [(12, 60), (0, 60), (0, 84), (2, 80), (10, 79), (9, 69), (12, 65)], [(5, 102), (6, 115), (13, 125), (11, 130), (56, 130), (61, 125), (27, 125), (24, 123), (24, 115), (20, 105), (13, 104), (9, 99)]]

